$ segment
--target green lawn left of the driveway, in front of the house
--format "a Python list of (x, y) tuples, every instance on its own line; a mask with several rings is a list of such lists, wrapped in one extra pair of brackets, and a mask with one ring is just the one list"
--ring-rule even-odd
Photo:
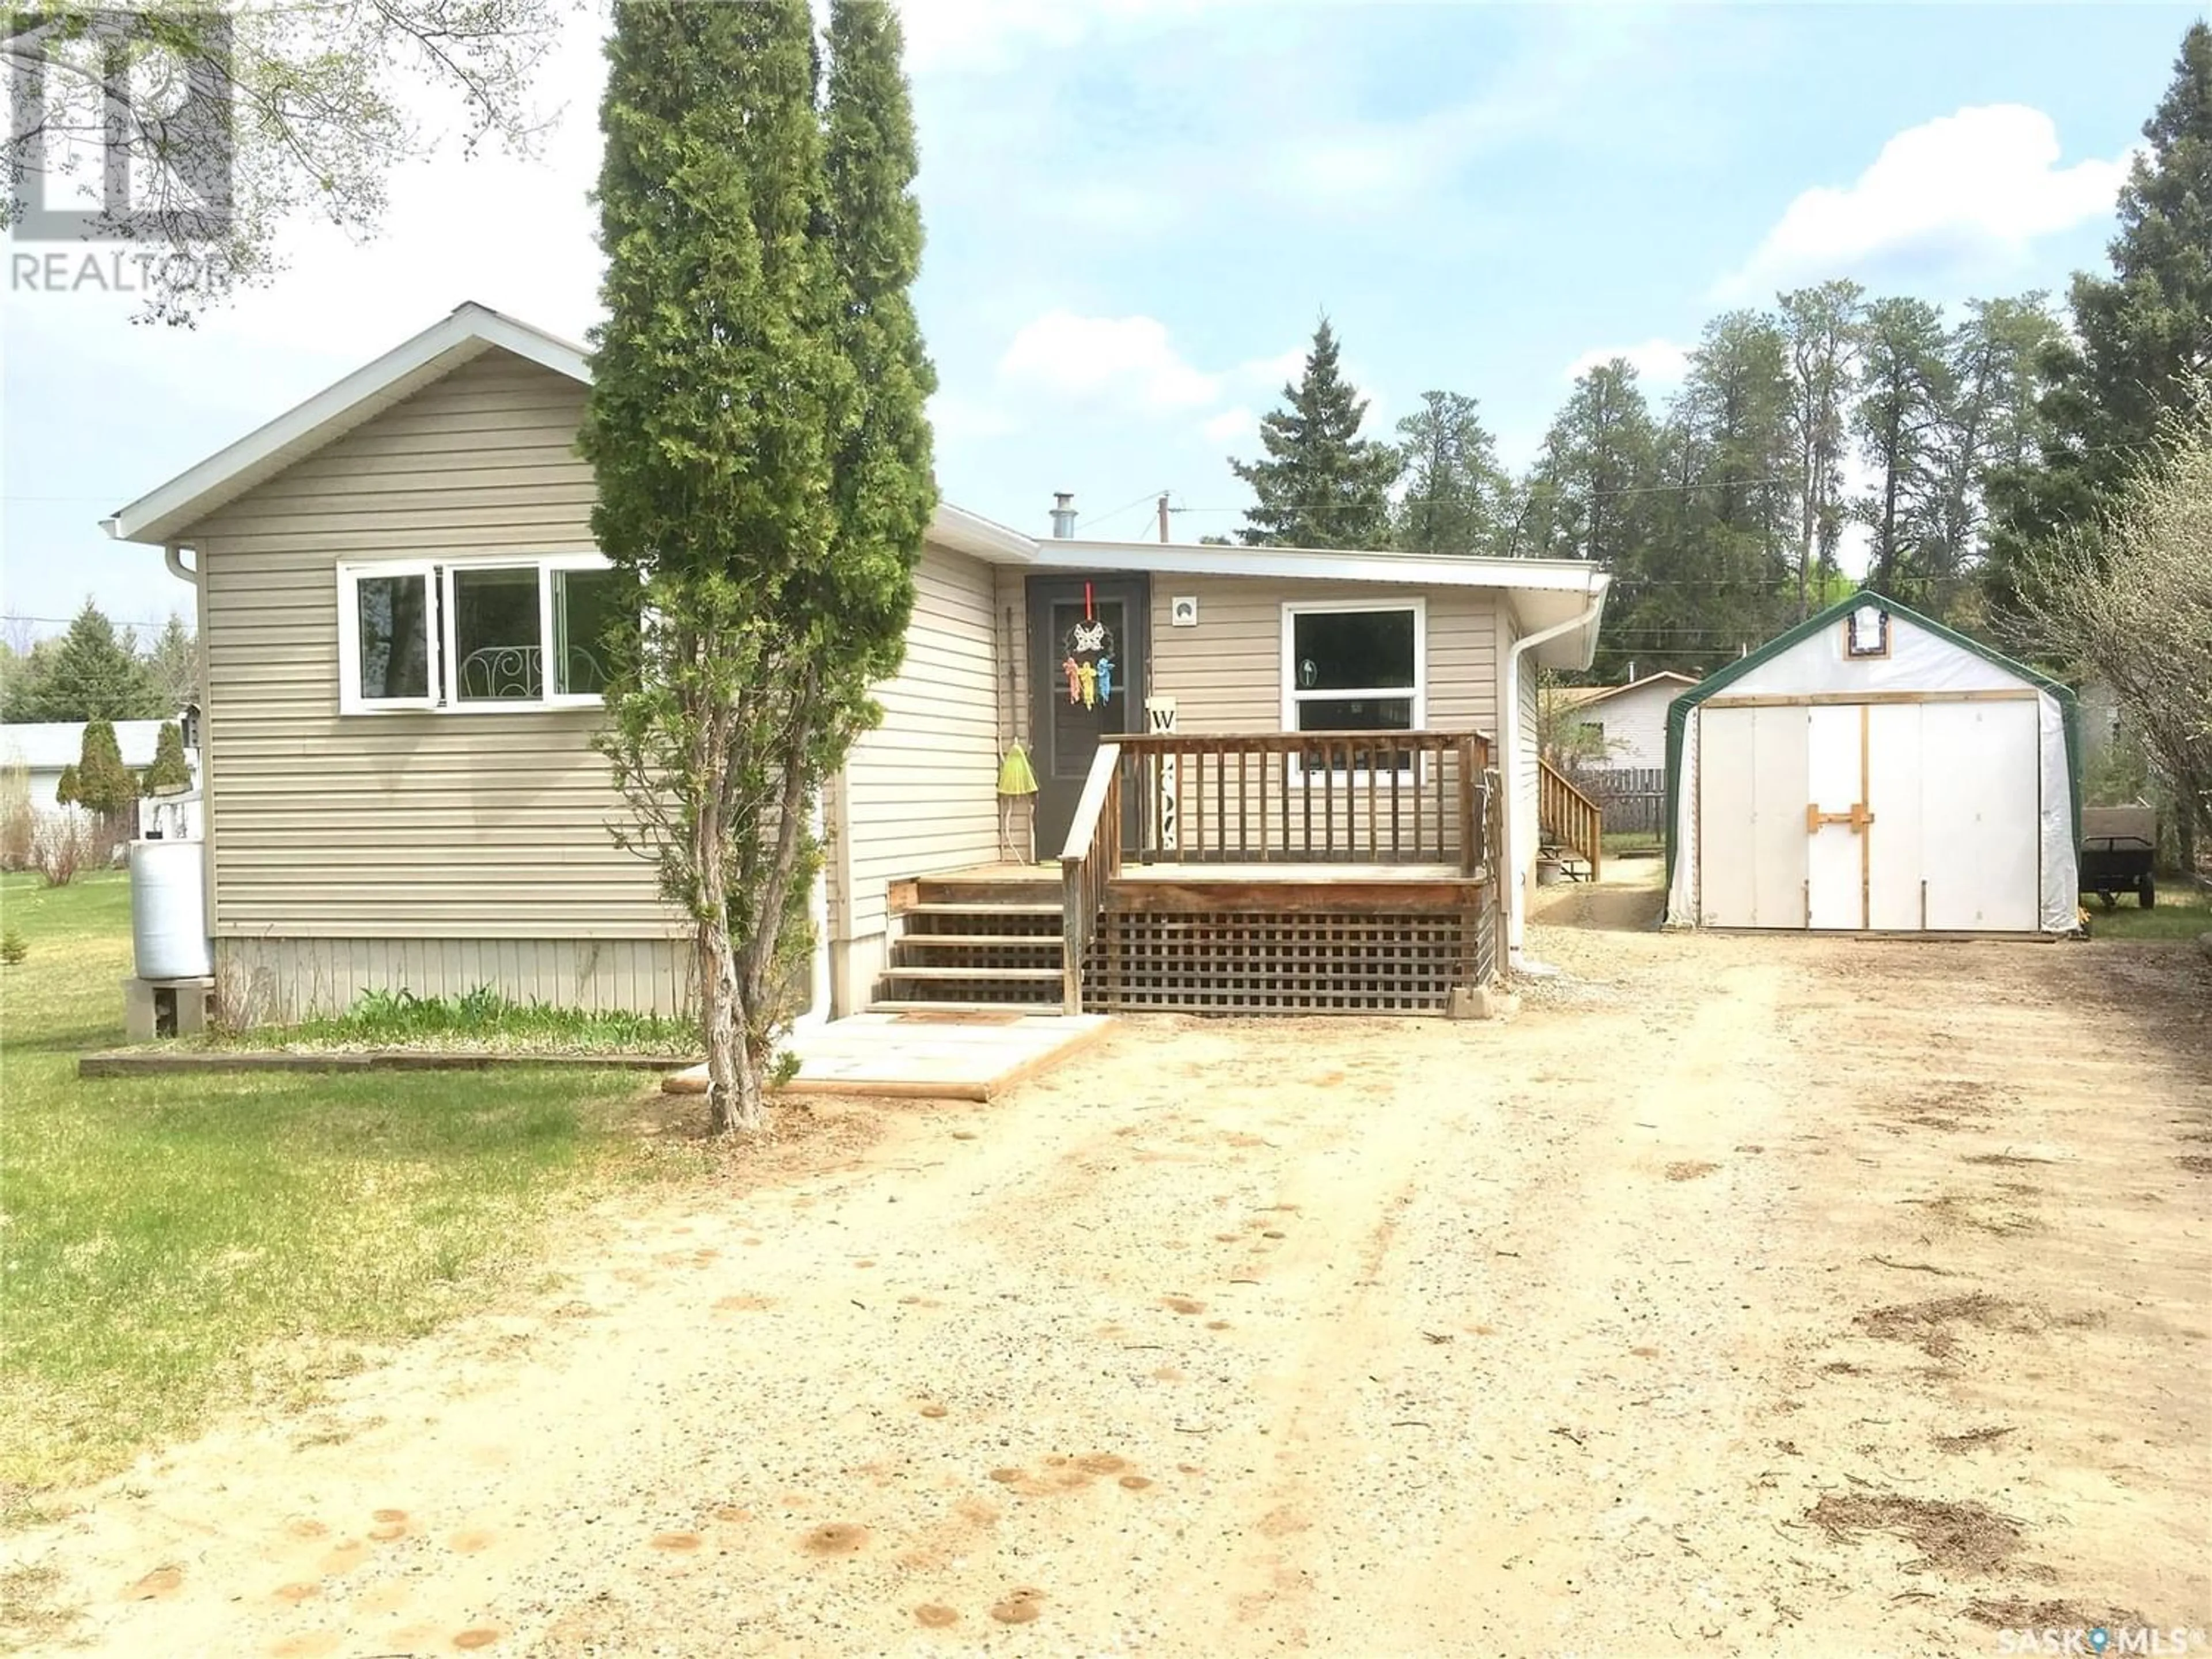
[(633, 1133), (635, 1071), (80, 1082), (122, 1042), (122, 876), (0, 876), (0, 1511), (215, 1407), (299, 1398), (482, 1305), (611, 1181), (690, 1175)]

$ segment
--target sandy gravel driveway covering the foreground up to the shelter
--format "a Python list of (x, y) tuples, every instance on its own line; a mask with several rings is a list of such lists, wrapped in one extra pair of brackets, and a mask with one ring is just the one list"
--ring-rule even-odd
[(1130, 1022), (845, 1108), (9, 1555), (128, 1655), (2212, 1626), (2205, 964), (1535, 945), (1509, 1024)]

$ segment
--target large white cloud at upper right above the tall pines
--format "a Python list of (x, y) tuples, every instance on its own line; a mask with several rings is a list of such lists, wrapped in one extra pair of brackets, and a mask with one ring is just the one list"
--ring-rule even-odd
[(2059, 166), (2059, 133), (2026, 104), (1969, 106), (1898, 133), (1849, 186), (1796, 197), (1719, 299), (1865, 272), (1880, 261), (1991, 265), (2112, 210), (2128, 157)]

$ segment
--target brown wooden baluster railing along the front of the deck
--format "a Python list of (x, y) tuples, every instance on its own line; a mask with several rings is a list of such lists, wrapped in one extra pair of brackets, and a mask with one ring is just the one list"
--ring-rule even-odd
[(1480, 732), (1117, 737), (1133, 757), (1135, 863), (1458, 863), (1484, 858)]

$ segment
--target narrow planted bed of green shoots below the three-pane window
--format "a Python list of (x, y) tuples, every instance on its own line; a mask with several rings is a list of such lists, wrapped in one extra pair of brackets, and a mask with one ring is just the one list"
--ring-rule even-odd
[(648, 1013), (580, 1013), (509, 1002), (489, 984), (460, 998), (372, 991), (341, 1015), (212, 1040), (248, 1048), (489, 1048), (535, 1053), (692, 1055), (699, 1026)]

